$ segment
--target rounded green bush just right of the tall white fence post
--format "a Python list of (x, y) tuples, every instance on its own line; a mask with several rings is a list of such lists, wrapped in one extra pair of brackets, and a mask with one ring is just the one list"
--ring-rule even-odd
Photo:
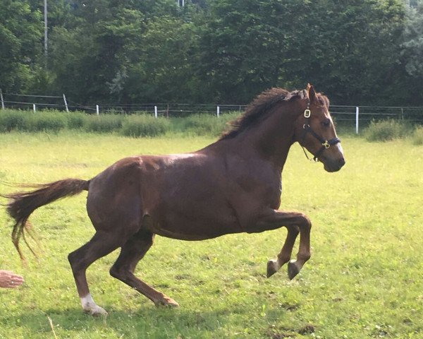
[(364, 130), (364, 137), (367, 141), (389, 141), (401, 138), (409, 129), (405, 123), (396, 120), (371, 121)]

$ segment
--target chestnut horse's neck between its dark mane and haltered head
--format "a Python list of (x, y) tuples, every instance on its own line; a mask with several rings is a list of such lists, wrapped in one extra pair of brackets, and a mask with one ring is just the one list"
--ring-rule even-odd
[[(291, 107), (290, 107), (291, 106)], [(276, 105), (268, 117), (231, 139), (238, 150), (253, 151), (259, 157), (283, 169), (290, 146), (293, 144), (294, 121), (297, 112), (290, 103)]]

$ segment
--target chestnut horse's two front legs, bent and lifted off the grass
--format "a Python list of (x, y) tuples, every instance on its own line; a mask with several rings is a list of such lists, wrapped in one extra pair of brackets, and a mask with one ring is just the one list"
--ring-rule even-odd
[[(271, 210), (265, 213), (257, 222), (260, 230), (274, 230), (285, 226), (288, 229), (285, 244), (283, 244), (281, 253), (276, 259), (267, 263), (267, 277), (274, 275), (283, 264), (288, 263), (288, 277), (293, 279), (298, 275), (302, 266), (310, 258), (310, 230), (312, 222), (307, 215), (297, 212), (282, 212), (281, 210)], [(300, 246), (297, 259), (290, 261), (295, 239), (300, 233)]]

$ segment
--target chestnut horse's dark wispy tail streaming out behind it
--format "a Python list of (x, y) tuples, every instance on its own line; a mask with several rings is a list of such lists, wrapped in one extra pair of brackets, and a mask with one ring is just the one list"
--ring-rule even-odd
[(89, 180), (82, 179), (63, 179), (49, 184), (30, 184), (19, 185), (23, 188), (33, 188), (35, 191), (20, 191), (13, 194), (1, 195), (10, 199), (6, 205), (8, 215), (15, 220), (12, 231), (12, 242), (18, 251), (20, 259), (25, 262), (25, 257), (20, 250), (19, 241), (23, 237), (25, 244), (34, 256), (35, 251), (32, 250), (30, 244), (27, 243), (25, 232), (30, 234), (32, 238), (31, 225), (28, 218), (37, 208), (52, 203), (66, 196), (74, 196), (82, 191), (88, 191), (90, 185)]

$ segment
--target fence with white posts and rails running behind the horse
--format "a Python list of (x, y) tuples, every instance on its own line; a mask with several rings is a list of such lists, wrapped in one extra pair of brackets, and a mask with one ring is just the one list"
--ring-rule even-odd
[[(59, 109), (83, 111), (88, 114), (133, 114), (147, 112), (154, 117), (186, 117), (190, 114), (214, 114), (220, 117), (228, 112), (243, 112), (247, 105), (195, 105), (178, 103), (153, 104), (117, 104), (117, 105), (80, 105), (66, 99), (66, 95), (22, 95), (2, 93), (0, 90), (1, 108), (32, 109), (34, 112), (42, 109)], [(331, 114), (338, 124), (355, 126), (359, 133), (360, 126), (369, 124), (373, 119), (401, 119), (413, 124), (423, 124), (423, 106), (420, 107), (388, 107), (388, 106), (345, 106), (331, 105)]]

